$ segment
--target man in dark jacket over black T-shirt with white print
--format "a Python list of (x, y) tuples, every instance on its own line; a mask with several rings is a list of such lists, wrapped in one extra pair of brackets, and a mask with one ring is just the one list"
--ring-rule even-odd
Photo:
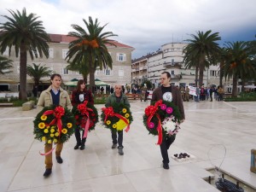
[[(168, 72), (163, 72), (160, 74), (160, 84), (161, 86), (156, 88), (152, 95), (152, 102), (157, 102), (159, 100), (165, 100), (167, 102), (173, 102), (181, 113), (181, 123), (185, 119), (184, 109), (183, 109), (183, 98), (180, 91), (176, 86), (171, 84), (171, 74)], [(176, 134), (171, 137), (163, 137), (162, 143), (160, 144), (160, 151), (163, 158), (163, 167), (164, 169), (169, 169), (169, 156), (168, 149), (171, 144), (174, 142)]]

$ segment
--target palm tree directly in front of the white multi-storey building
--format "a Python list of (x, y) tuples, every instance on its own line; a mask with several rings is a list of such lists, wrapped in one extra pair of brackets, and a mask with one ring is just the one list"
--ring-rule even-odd
[(196, 63), (198, 61), (199, 67), (199, 85), (203, 84), (203, 75), (206, 67), (209, 67), (216, 61), (216, 55), (219, 53), (219, 46), (216, 41), (221, 38), (218, 32), (210, 34), (212, 31), (197, 32), (197, 36), (191, 34), (192, 39), (188, 39), (189, 44), (183, 50), (184, 63), (188, 64), (189, 61)]

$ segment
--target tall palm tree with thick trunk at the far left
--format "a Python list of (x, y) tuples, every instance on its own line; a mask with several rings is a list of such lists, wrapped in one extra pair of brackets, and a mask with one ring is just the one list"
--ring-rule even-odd
[(26, 100), (26, 60), (27, 51), (32, 60), (34, 57), (43, 57), (43, 54), (49, 56), (49, 36), (44, 31), (42, 21), (34, 14), (26, 15), (26, 9), (15, 13), (9, 10), (12, 17), (3, 15), (8, 21), (1, 23), (0, 29), (3, 33), (0, 35), (0, 52), (3, 54), (9, 47), (9, 54), (12, 46), (15, 47), (15, 55), (18, 57), (20, 52), (20, 99)]

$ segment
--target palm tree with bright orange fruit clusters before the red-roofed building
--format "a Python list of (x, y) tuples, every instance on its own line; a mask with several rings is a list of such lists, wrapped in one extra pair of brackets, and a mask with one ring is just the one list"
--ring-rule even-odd
[(102, 32), (105, 26), (99, 26), (98, 20), (93, 21), (91, 17), (89, 17), (89, 22), (84, 20), (84, 24), (86, 29), (82, 28), (78, 25), (72, 25), (73, 29), (76, 32), (69, 32), (68, 35), (76, 38), (71, 42), (68, 46), (69, 50), (67, 52), (67, 61), (71, 61), (73, 65), (81, 64), (80, 61), (84, 61), (82, 63), (83, 67), (87, 67), (90, 73), (90, 89), (94, 91), (93, 87), (95, 87), (95, 72), (96, 67), (112, 68), (112, 58), (108, 53), (107, 44), (113, 45), (113, 40), (108, 38), (117, 36), (113, 34), (113, 32)]

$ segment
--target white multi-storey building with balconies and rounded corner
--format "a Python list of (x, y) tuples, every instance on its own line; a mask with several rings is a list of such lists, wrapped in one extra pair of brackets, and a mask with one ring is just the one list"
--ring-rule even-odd
[[(161, 46), (156, 52), (138, 58), (131, 64), (131, 82), (141, 84), (143, 77), (154, 87), (160, 84), (160, 74), (171, 73), (172, 84), (177, 86), (195, 85), (195, 68), (186, 69), (183, 63), (183, 49), (187, 44), (170, 43)], [(144, 70), (145, 69), (145, 70)], [(143, 74), (146, 74), (143, 76)], [(209, 67), (203, 76), (203, 84), (219, 84), (219, 66)], [(230, 84), (230, 82), (224, 82)]]

